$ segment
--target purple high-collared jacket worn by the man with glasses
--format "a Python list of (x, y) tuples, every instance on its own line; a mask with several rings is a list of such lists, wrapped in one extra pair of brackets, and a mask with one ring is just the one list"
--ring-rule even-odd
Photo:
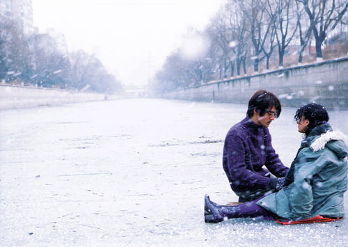
[[(267, 169), (262, 168), (266, 166)], [(248, 116), (228, 132), (223, 146), (223, 170), (235, 192), (247, 189), (275, 189), (276, 177), (285, 177), (286, 166), (272, 147), (267, 127)]]

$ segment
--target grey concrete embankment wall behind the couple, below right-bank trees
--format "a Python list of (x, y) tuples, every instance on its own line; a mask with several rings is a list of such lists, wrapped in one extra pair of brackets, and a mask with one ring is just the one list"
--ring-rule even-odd
[(161, 97), (245, 104), (258, 89), (275, 93), (284, 106), (314, 101), (328, 108), (348, 109), (348, 57), (212, 81), (164, 93)]

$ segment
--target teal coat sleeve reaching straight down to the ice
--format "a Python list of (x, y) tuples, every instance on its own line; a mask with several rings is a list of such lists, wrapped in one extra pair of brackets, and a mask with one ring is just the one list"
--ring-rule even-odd
[(312, 217), (313, 177), (319, 173), (328, 159), (323, 150), (313, 152), (304, 148), (294, 162), (294, 187), (290, 192), (290, 218), (301, 220)]

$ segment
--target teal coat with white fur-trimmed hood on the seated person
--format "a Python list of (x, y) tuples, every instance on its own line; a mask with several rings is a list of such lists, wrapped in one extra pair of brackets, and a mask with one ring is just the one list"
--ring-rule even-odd
[[(315, 127), (287, 173), (287, 186), (257, 203), (282, 218), (300, 220), (318, 214), (342, 217), (343, 194), (347, 191), (347, 146), (344, 135), (329, 124)], [(286, 184), (286, 183), (285, 183)]]

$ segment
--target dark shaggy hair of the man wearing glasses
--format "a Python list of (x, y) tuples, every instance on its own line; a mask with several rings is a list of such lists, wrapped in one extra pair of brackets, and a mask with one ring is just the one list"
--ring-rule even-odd
[(276, 108), (276, 114), (274, 116), (278, 118), (280, 116), (280, 112), (282, 111), (282, 106), (279, 99), (273, 93), (260, 89), (254, 93), (253, 97), (251, 97), (249, 100), (248, 111), (246, 111), (246, 114), (248, 114), (248, 117), (251, 118), (255, 109), (256, 112), (262, 116), (273, 106)]

